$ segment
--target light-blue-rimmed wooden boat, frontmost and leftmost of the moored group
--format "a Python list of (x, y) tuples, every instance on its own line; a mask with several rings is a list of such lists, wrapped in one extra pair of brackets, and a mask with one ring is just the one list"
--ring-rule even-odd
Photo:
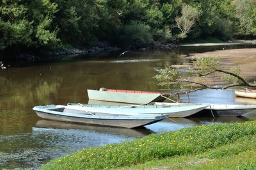
[(163, 120), (166, 116), (160, 114), (138, 114), (129, 112), (106, 112), (103, 109), (88, 111), (84, 107), (65, 105), (35, 106), (36, 114), (45, 119), (70, 121), (77, 123), (88, 123), (91, 125), (102, 125), (110, 127), (134, 128), (149, 125)]

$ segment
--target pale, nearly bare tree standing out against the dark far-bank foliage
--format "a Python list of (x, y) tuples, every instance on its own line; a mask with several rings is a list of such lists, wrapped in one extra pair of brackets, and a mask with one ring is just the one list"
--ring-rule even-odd
[(198, 18), (197, 8), (193, 8), (188, 4), (183, 4), (181, 10), (181, 16), (176, 17), (175, 21), (177, 27), (180, 29), (180, 38), (186, 38), (187, 34), (191, 31), (191, 28), (195, 25), (196, 19)]

